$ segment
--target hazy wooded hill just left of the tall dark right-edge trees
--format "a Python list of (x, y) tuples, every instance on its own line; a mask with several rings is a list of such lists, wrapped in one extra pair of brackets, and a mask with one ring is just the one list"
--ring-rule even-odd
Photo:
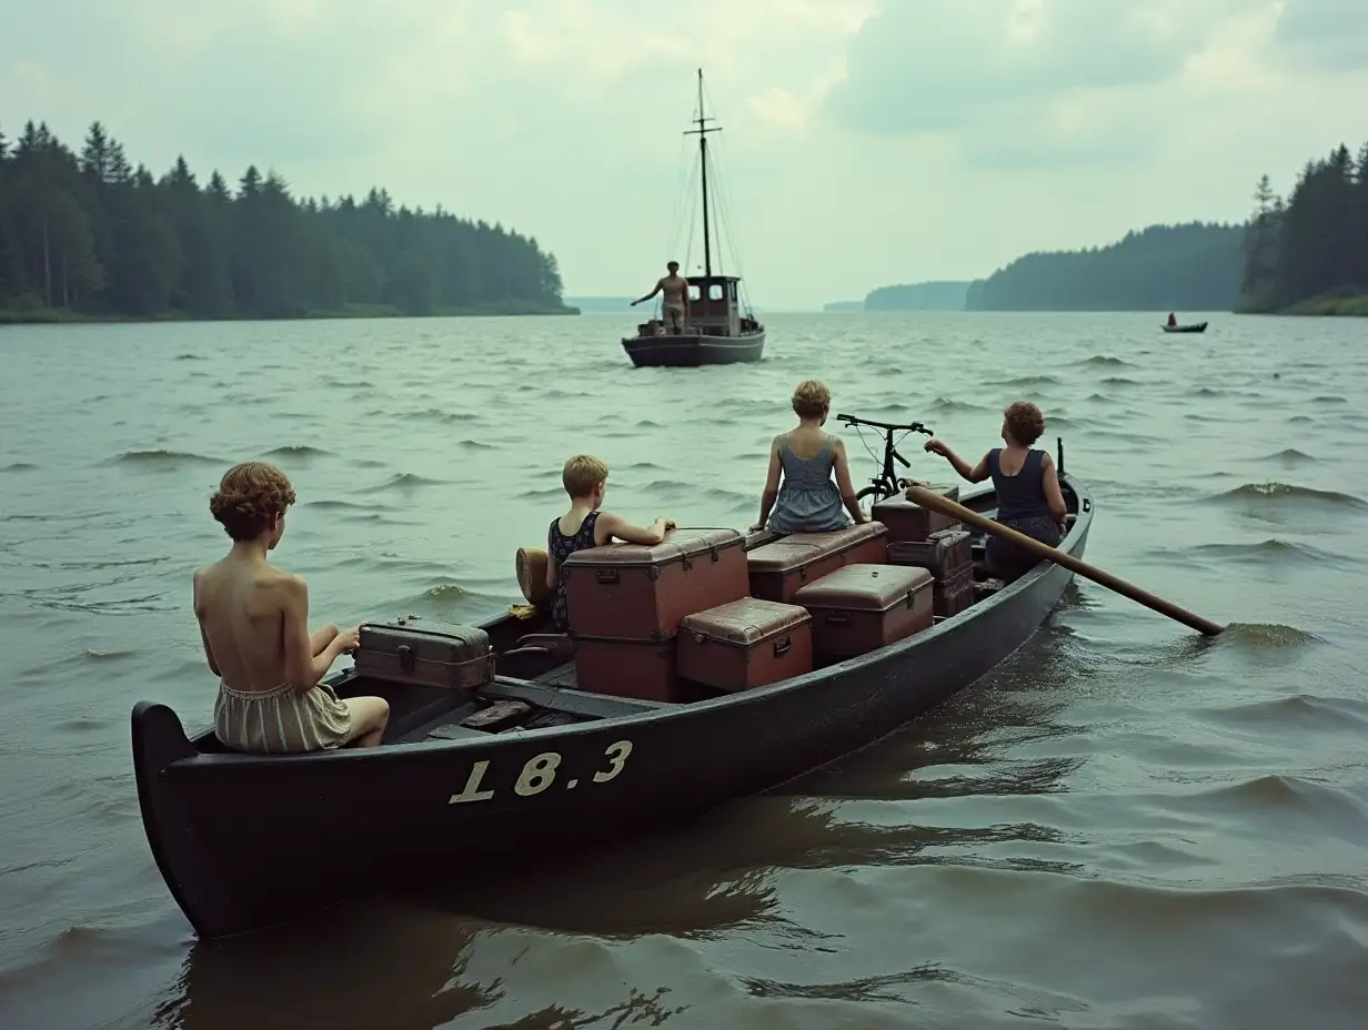
[(1150, 226), (1086, 250), (1018, 257), (969, 287), (966, 311), (1231, 311), (1242, 226)]

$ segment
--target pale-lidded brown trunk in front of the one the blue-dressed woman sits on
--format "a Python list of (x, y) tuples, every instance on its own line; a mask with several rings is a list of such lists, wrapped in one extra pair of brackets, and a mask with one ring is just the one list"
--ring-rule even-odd
[(855, 658), (930, 629), (932, 588), (926, 569), (912, 565), (847, 565), (798, 592), (813, 614), (813, 651)]

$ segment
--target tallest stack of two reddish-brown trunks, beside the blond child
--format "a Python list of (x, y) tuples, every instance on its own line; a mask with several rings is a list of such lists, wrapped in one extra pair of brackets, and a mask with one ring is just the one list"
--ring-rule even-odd
[(676, 673), (680, 621), (740, 600), (750, 583), (735, 529), (673, 529), (663, 543), (576, 551), (561, 566), (579, 689), (684, 700)]

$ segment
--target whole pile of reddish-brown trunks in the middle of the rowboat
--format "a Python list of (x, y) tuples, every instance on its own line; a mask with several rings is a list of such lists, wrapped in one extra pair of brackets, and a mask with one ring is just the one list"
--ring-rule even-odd
[[(904, 532), (915, 529), (908, 520), (934, 516), (903, 507), (921, 513), (904, 514)], [(685, 702), (700, 685), (766, 687), (928, 629), (934, 576), (885, 564), (889, 536), (880, 521), (770, 542), (674, 529), (654, 547), (576, 551), (561, 566), (576, 685)]]

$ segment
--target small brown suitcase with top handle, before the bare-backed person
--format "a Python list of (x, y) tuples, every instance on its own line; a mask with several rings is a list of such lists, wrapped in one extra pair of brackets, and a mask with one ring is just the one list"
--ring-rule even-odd
[(363, 622), (360, 637), (353, 652), (357, 676), (446, 689), (471, 689), (494, 678), (490, 636), (476, 626)]

